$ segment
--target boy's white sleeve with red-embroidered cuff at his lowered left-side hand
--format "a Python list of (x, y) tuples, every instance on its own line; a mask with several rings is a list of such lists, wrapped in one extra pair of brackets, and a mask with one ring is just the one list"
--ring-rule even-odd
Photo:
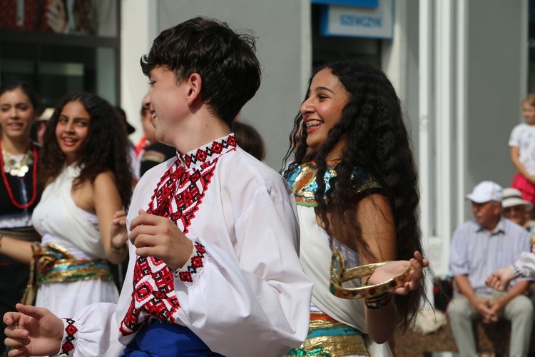
[(63, 318), (60, 356), (120, 356), (124, 346), (118, 341), (116, 304), (93, 303), (75, 318)]

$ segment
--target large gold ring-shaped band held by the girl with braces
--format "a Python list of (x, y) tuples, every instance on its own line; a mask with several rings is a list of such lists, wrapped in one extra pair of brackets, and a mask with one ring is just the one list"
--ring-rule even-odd
[(333, 250), (330, 278), (331, 293), (339, 298), (371, 298), (386, 293), (387, 291), (392, 291), (395, 288), (399, 288), (407, 281), (410, 281), (410, 271), (412, 266), (409, 264), (409, 266), (397, 276), (389, 278), (382, 283), (370, 286), (358, 286), (356, 288), (345, 288), (342, 286), (342, 283), (345, 281), (371, 275), (375, 269), (379, 268), (379, 266), (384, 266), (386, 263), (389, 262), (384, 261), (382, 263), (366, 264), (347, 269), (345, 267), (345, 259), (342, 257), (342, 253), (338, 249)]

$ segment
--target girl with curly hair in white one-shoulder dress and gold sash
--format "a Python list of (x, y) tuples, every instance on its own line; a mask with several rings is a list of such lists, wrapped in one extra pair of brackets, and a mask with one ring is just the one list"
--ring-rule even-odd
[[(63, 99), (46, 126), (39, 164), (44, 191), (32, 216), (42, 235), (33, 254), (36, 306), (73, 316), (90, 303), (115, 303), (107, 261), (126, 258), (123, 208), (131, 199), (131, 171), (113, 106), (93, 94)], [(13, 242), (0, 252), (26, 262), (32, 256), (30, 243)]]

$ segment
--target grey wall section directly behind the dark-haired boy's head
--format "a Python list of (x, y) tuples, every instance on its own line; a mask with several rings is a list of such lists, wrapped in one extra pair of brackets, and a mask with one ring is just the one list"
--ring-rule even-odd
[[(158, 1), (158, 31), (202, 15), (225, 21), (233, 29), (250, 29), (258, 36), (262, 84), (245, 104), (241, 120), (260, 131), (267, 147), (265, 163), (276, 170), (282, 166), (292, 121), (305, 93), (302, 72), (310, 70), (301, 64), (303, 55), (310, 59), (310, 53), (302, 53), (302, 14), (309, 13), (303, 4), (306, 1)], [(310, 21), (310, 16), (303, 21)]]

